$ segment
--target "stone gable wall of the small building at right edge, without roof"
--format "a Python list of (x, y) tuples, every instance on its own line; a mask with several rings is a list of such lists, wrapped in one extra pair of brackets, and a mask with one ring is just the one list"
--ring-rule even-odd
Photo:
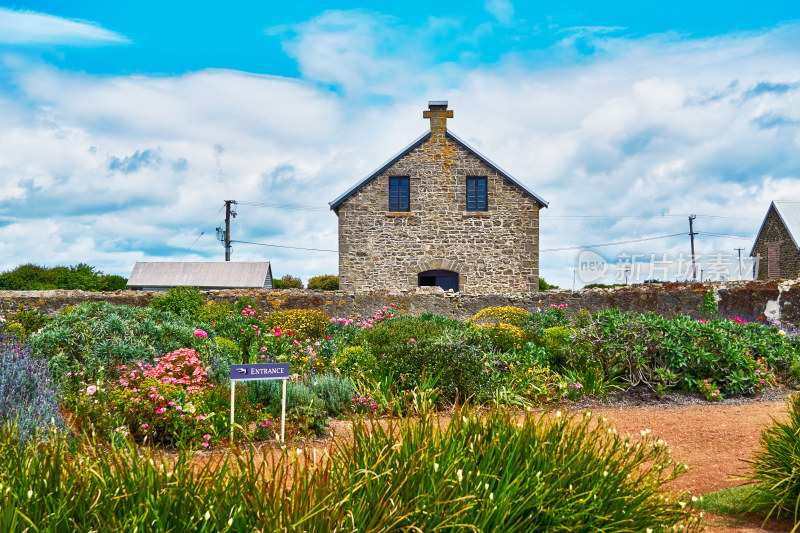
[[(775, 246), (778, 248), (770, 257), (770, 248)], [(773, 248), (773, 250), (775, 249)], [(779, 265), (773, 264), (770, 268), (770, 260), (774, 261), (776, 255), (779, 257)], [(789, 229), (779, 216), (774, 203), (770, 206), (761, 231), (756, 237), (751, 256), (756, 259), (754, 263), (755, 279), (796, 279), (800, 277), (800, 251), (798, 251)]]

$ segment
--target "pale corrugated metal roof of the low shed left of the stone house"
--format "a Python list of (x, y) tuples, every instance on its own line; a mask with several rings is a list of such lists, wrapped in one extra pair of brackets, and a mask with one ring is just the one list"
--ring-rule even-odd
[(199, 287), (201, 289), (269, 289), (269, 261), (148, 262), (137, 261), (128, 288)]

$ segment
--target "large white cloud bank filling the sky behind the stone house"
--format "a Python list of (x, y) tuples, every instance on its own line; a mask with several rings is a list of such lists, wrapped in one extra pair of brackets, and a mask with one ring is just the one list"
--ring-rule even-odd
[[(735, 217), (699, 217), (698, 231), (754, 235), (771, 200), (800, 197), (800, 52), (787, 38), (797, 30), (696, 40), (595, 32), (585, 37), (591, 60), (547, 66), (539, 51), (467, 69), (414, 55), (404, 29), (382, 17), (329, 12), (286, 37), (301, 80), (6, 63), (16, 89), (0, 89), (0, 270), (84, 261), (127, 274), (145, 255), (221, 258), (222, 200), (324, 209), (422, 133), (425, 103), (440, 98), (456, 133), (551, 201), (543, 249), (688, 233), (689, 213)], [(559, 218), (609, 214), (675, 216)], [(241, 205), (233, 230), (237, 240), (336, 248), (336, 218), (324, 210)], [(598, 251), (677, 255), (688, 241)], [(751, 244), (697, 239), (703, 254)], [(571, 286), (577, 255), (543, 253), (542, 275)], [(276, 276), (337, 268), (336, 254), (244, 244), (234, 258), (271, 259)]]

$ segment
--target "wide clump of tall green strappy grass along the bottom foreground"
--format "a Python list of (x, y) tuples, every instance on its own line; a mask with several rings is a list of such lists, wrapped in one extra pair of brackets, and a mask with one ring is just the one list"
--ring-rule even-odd
[[(2, 531), (699, 531), (683, 465), (590, 417), (354, 423), (330, 457), (219, 461), (0, 432)], [(305, 463), (303, 465), (302, 463)], [(683, 501), (679, 501), (682, 498)]]

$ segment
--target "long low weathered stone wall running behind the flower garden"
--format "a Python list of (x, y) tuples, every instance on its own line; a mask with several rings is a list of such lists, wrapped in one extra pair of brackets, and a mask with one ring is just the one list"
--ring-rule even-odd
[[(632, 285), (619, 289), (546, 291), (535, 294), (471, 295), (425, 289), (409, 292), (352, 293), (307, 290), (225, 290), (209, 291), (208, 301), (252, 298), (264, 309), (320, 309), (331, 316), (370, 315), (394, 304), (400, 314), (436, 313), (466, 319), (490, 306), (513, 305), (530, 311), (566, 303), (571, 312), (618, 307), (624, 311), (653, 311), (665, 316), (698, 314), (703, 297), (711, 288), (719, 297), (725, 316), (768, 316), (800, 323), (800, 280), (715, 283), (663, 283)], [(162, 293), (163, 294), (163, 293)], [(85, 301), (144, 306), (151, 292), (0, 291), (0, 314), (11, 314), (20, 306), (53, 315), (68, 305)]]

